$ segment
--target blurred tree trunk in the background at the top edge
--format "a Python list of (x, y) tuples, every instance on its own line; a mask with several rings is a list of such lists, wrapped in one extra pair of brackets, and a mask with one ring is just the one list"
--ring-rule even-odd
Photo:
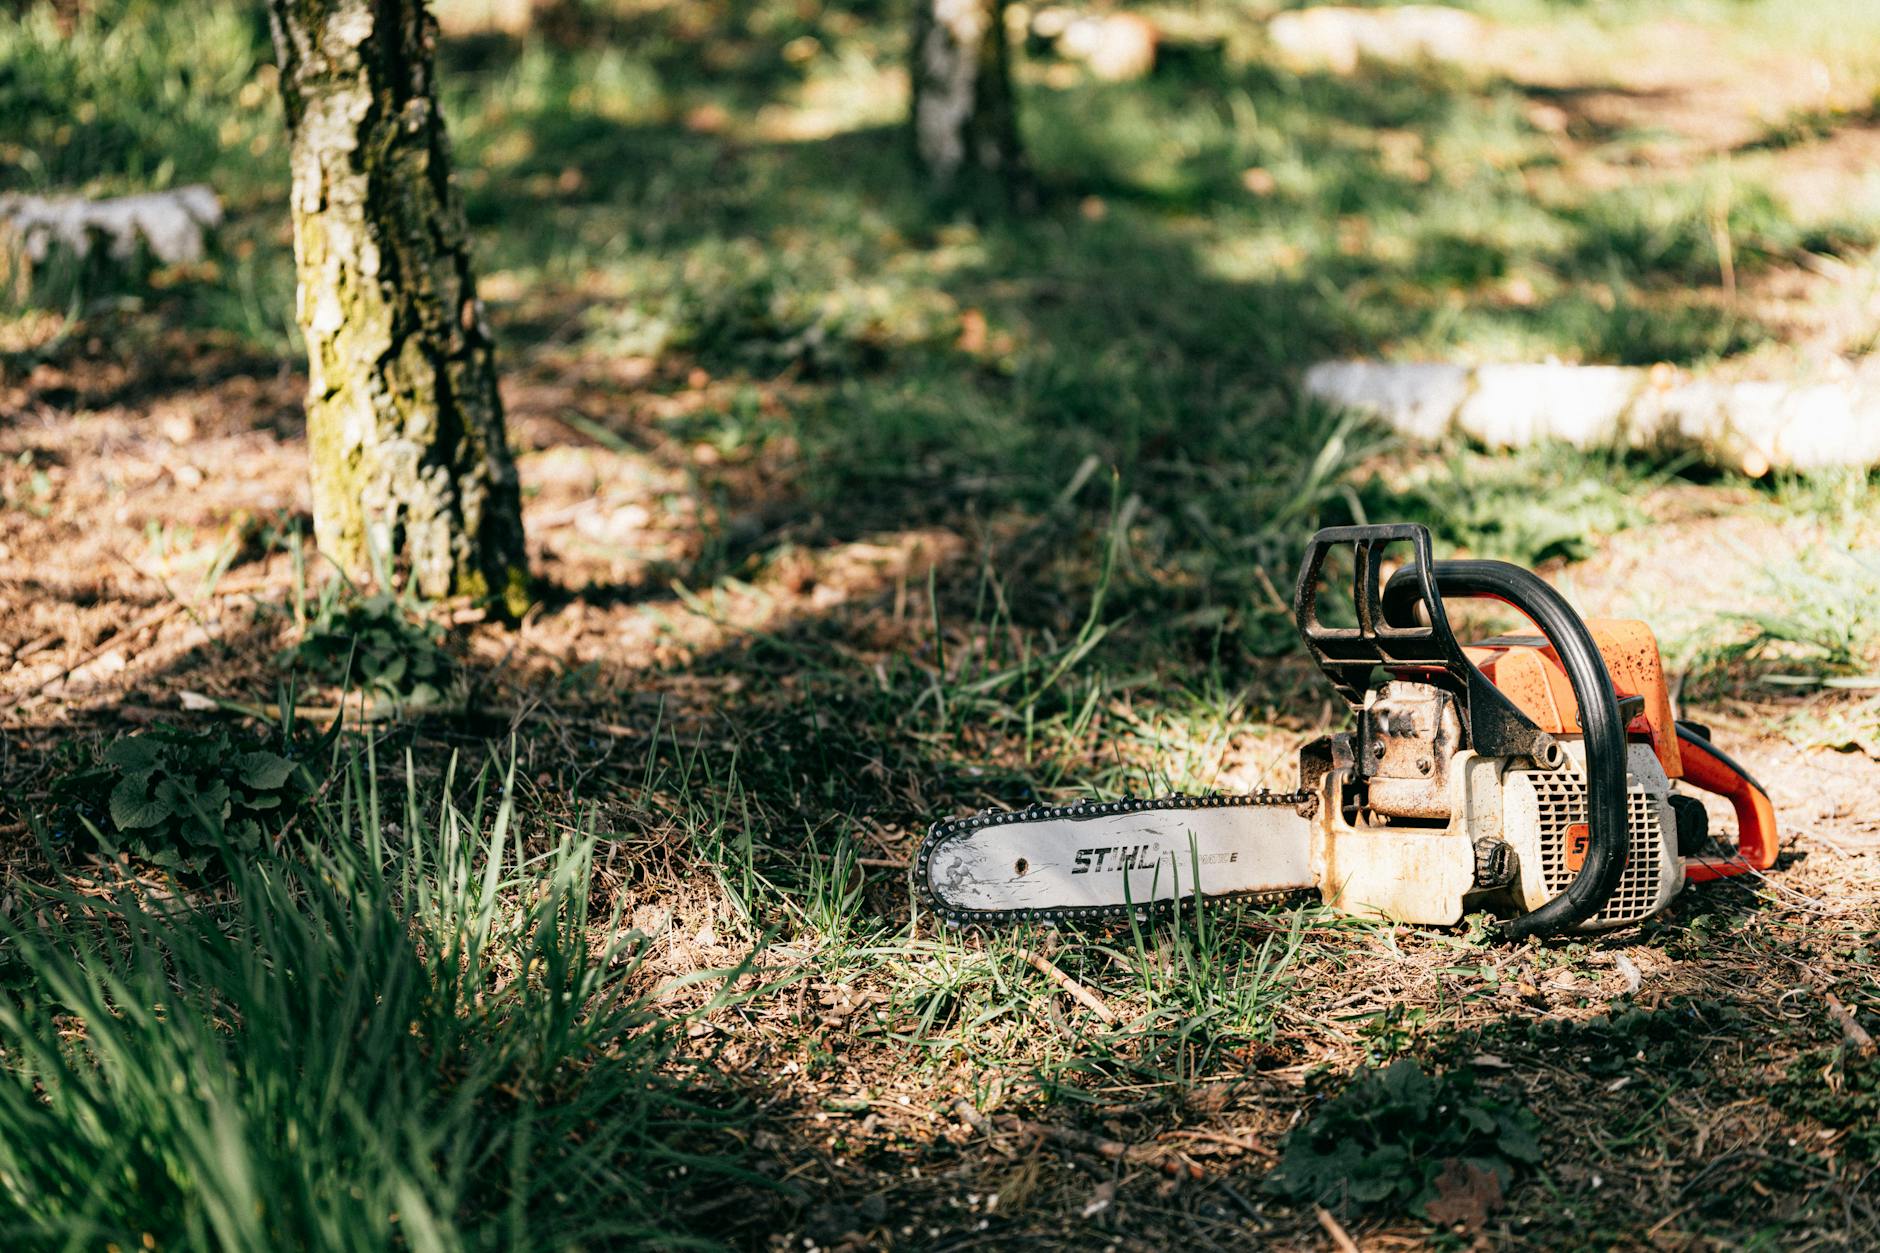
[(914, 154), (929, 192), (974, 207), (1023, 205), (1006, 0), (916, 0)]

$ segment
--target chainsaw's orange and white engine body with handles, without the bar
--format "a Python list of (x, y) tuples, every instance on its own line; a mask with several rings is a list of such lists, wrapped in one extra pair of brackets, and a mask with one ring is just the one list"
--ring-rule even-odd
[[(1414, 561), (1384, 579), (1393, 544)], [(1355, 551), (1355, 626), (1320, 617), (1320, 574), (1340, 546)], [(1538, 632), (1465, 647), (1444, 611), (1459, 596), (1500, 600)], [(1677, 722), (1645, 623), (1583, 621), (1504, 563), (1433, 561), (1427, 531), (1402, 525), (1322, 531), (1293, 606), (1354, 713), (1299, 760), (1301, 785), (1320, 790), (1312, 856), (1327, 901), (1418, 924), (1485, 909), (1515, 933), (1604, 931), (1656, 914), (1686, 879), (1773, 862), (1767, 796)], [(1737, 807), (1735, 858), (1681, 856), (1707, 843), (1701, 803), (1673, 803), (1686, 756), (1694, 783)]]

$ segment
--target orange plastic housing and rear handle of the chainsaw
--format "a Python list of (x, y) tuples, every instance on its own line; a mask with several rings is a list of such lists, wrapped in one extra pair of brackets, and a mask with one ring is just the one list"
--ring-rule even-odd
[[(1587, 628), (1600, 657), (1606, 658), (1613, 694), (1619, 700), (1632, 696), (1643, 700), (1639, 713), (1626, 724), (1626, 736), (1649, 743), (1668, 777), (1722, 796), (1735, 809), (1737, 854), (1686, 858), (1686, 877), (1701, 882), (1775, 865), (1775, 805), (1735, 764), (1713, 753), (1703, 738), (1679, 732), (1671, 689), (1664, 681), (1658, 638), (1651, 626), (1630, 619), (1589, 619)], [(1543, 732), (1579, 734), (1574, 685), (1559, 655), (1542, 636), (1498, 636), (1472, 643), (1463, 653)]]

